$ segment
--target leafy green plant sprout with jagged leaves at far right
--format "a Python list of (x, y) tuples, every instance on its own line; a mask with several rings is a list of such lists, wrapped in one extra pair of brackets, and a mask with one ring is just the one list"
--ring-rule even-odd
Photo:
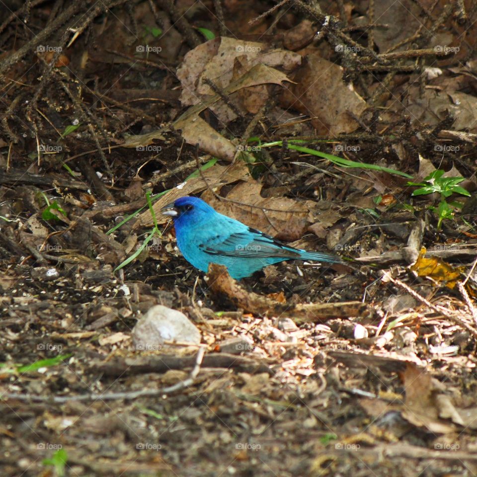
[(446, 201), (446, 198), (452, 194), (461, 194), (467, 197), (470, 197), (470, 193), (457, 185), (461, 183), (464, 177), (443, 177), (445, 171), (442, 169), (437, 169), (434, 172), (430, 173), (427, 177), (424, 177), (423, 182), (408, 182), (407, 185), (418, 186), (419, 189), (416, 189), (412, 192), (411, 195), (427, 195), (427, 194), (441, 194), (441, 201), (437, 207), (430, 207), (431, 210), (435, 211), (438, 217), (437, 221), (437, 230), (441, 230), (442, 221), (444, 219), (452, 219), (454, 217), (454, 210), (462, 207), (462, 204), (459, 202), (450, 202)]

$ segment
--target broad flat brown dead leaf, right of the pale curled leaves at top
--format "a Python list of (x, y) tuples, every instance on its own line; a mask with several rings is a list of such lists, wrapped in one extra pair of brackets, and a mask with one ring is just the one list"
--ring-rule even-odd
[(319, 135), (336, 137), (357, 129), (352, 115), (359, 117), (367, 104), (343, 82), (343, 69), (317, 54), (306, 59), (292, 77), (297, 84), (282, 93), (282, 105), (309, 115)]

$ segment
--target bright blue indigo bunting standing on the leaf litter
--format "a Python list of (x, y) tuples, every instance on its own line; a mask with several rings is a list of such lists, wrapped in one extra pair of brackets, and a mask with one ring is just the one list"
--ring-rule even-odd
[(173, 218), (177, 246), (195, 268), (207, 272), (209, 263), (225, 265), (236, 280), (250, 276), (267, 265), (284, 260), (316, 260), (340, 263), (339, 257), (308, 252), (247, 227), (238, 220), (219, 214), (197, 197), (180, 197), (162, 208)]

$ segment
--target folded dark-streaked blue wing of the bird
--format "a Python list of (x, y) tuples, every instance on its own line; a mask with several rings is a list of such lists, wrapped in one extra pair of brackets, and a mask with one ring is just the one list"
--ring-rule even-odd
[(223, 255), (243, 258), (300, 258), (301, 250), (287, 247), (263, 232), (246, 227), (243, 232), (235, 232), (227, 237), (217, 236), (199, 248), (209, 255)]

